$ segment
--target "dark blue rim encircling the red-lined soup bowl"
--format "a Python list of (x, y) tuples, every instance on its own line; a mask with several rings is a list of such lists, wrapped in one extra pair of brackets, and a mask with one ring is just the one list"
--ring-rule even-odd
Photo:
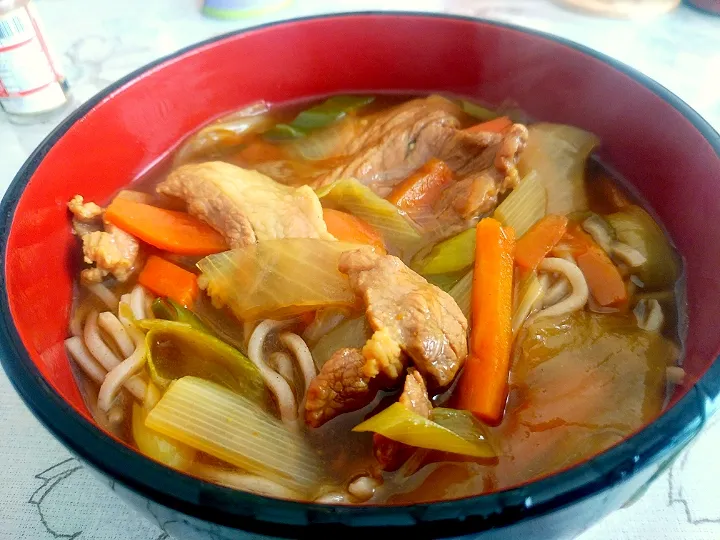
[(109, 94), (149, 69), (197, 47), (230, 36), (298, 21), (377, 16), (425, 17), (493, 25), (550, 40), (598, 59), (630, 76), (678, 110), (720, 156), (720, 135), (690, 106), (665, 87), (635, 69), (597, 51), (545, 32), (490, 20), (421, 12), (335, 13), (272, 22), (230, 32), (180, 49), (123, 77), (88, 100), (60, 123), (30, 155), (10, 184), (0, 205), (0, 362), (26, 405), (41, 423), (75, 455), (93, 468), (134, 492), (168, 508), (202, 521), (240, 528), (248, 532), (293, 538), (306, 533), (333, 534), (347, 526), (369, 533), (422, 524), (423, 537), (442, 538), (506, 526), (569, 506), (624, 481), (650, 464), (667, 460), (689, 442), (705, 424), (720, 395), (720, 362), (674, 406), (652, 424), (617, 446), (587, 462), (530, 484), (508, 490), (452, 501), (408, 506), (325, 506), (283, 501), (244, 493), (172, 471), (103, 435), (70, 407), (44, 380), (29, 358), (15, 329), (6, 287), (7, 239), (22, 192), (50, 148), (88, 111)]

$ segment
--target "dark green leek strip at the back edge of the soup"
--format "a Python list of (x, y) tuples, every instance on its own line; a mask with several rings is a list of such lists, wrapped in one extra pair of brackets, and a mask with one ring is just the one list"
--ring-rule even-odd
[(277, 124), (265, 132), (270, 140), (288, 140), (304, 137), (308, 132), (329, 126), (345, 118), (360, 107), (372, 103), (372, 96), (333, 96), (300, 114), (289, 124)]

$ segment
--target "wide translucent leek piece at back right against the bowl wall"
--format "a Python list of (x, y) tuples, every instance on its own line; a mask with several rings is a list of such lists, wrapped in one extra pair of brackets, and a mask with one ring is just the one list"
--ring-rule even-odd
[(585, 162), (600, 140), (561, 124), (534, 124), (518, 163), (523, 176), (537, 172), (547, 190), (547, 213), (567, 215), (588, 209)]

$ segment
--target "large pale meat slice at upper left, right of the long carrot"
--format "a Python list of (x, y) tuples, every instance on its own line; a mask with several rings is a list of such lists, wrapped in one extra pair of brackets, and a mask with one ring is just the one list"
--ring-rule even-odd
[(309, 186), (285, 186), (229, 163), (183, 165), (157, 191), (185, 200), (188, 212), (222, 233), (231, 247), (273, 238), (333, 239)]

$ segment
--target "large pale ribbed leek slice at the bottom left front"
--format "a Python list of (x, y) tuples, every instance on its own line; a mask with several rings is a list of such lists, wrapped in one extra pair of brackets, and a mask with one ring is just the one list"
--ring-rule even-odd
[(175, 381), (145, 425), (304, 495), (324, 476), (318, 455), (300, 433), (247, 398), (196, 377)]

